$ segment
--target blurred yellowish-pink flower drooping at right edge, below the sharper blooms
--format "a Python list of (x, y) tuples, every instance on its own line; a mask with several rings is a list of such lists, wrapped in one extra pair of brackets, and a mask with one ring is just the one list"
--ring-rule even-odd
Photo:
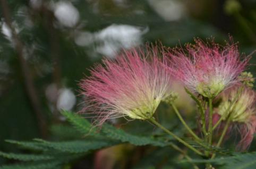
[[(215, 112), (223, 120), (223, 124), (230, 119), (231, 129), (237, 130), (241, 137), (237, 148), (245, 150), (256, 132), (256, 92), (251, 88), (244, 88), (240, 95), (239, 92), (239, 87), (236, 86), (221, 93), (221, 102)], [(235, 98), (237, 100), (232, 104)]]

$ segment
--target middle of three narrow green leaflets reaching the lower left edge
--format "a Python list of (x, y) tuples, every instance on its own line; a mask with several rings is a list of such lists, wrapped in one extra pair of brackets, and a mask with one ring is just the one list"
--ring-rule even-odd
[(0, 152), (0, 156), (8, 159), (16, 159), (19, 161), (39, 161), (39, 160), (53, 159), (53, 156), (49, 156), (49, 155), (14, 154), (14, 153), (4, 153), (4, 152)]

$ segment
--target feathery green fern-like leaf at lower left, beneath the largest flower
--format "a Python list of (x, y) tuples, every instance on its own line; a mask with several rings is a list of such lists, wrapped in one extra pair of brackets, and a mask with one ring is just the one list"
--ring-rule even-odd
[[(18, 145), (22, 149), (36, 154), (15, 154), (0, 152), (0, 156), (23, 161), (14, 165), (4, 165), (0, 168), (56, 168), (71, 163), (88, 153), (121, 143), (130, 143), (136, 146), (152, 145), (164, 147), (169, 145), (169, 139), (153, 138), (132, 135), (109, 124), (104, 124), (100, 129), (93, 127), (87, 119), (73, 112), (63, 111), (62, 114), (71, 122), (83, 138), (61, 142), (33, 139), (32, 142), (20, 142), (6, 140), (6, 142)], [(67, 128), (66, 126), (64, 128)], [(59, 128), (60, 129), (60, 128)], [(79, 134), (78, 134), (79, 135)]]

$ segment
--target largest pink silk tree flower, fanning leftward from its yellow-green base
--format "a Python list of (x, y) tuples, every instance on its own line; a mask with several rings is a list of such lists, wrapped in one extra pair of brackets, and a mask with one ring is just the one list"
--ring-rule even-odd
[(80, 82), (87, 105), (83, 111), (96, 114), (99, 123), (118, 117), (151, 118), (172, 91), (166, 61), (158, 58), (156, 46), (150, 47), (124, 50), (117, 59), (96, 65), (91, 77)]

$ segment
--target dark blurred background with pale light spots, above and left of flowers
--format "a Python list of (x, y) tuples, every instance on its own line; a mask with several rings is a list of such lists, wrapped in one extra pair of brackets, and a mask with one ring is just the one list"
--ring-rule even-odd
[[(0, 2), (1, 151), (13, 150), (4, 139), (58, 137), (56, 125), (65, 123), (59, 110), (83, 106), (79, 80), (122, 48), (158, 40), (183, 45), (194, 37), (225, 44), (229, 34), (245, 54), (256, 47), (254, 0)], [(255, 74), (254, 57), (251, 63)]]

